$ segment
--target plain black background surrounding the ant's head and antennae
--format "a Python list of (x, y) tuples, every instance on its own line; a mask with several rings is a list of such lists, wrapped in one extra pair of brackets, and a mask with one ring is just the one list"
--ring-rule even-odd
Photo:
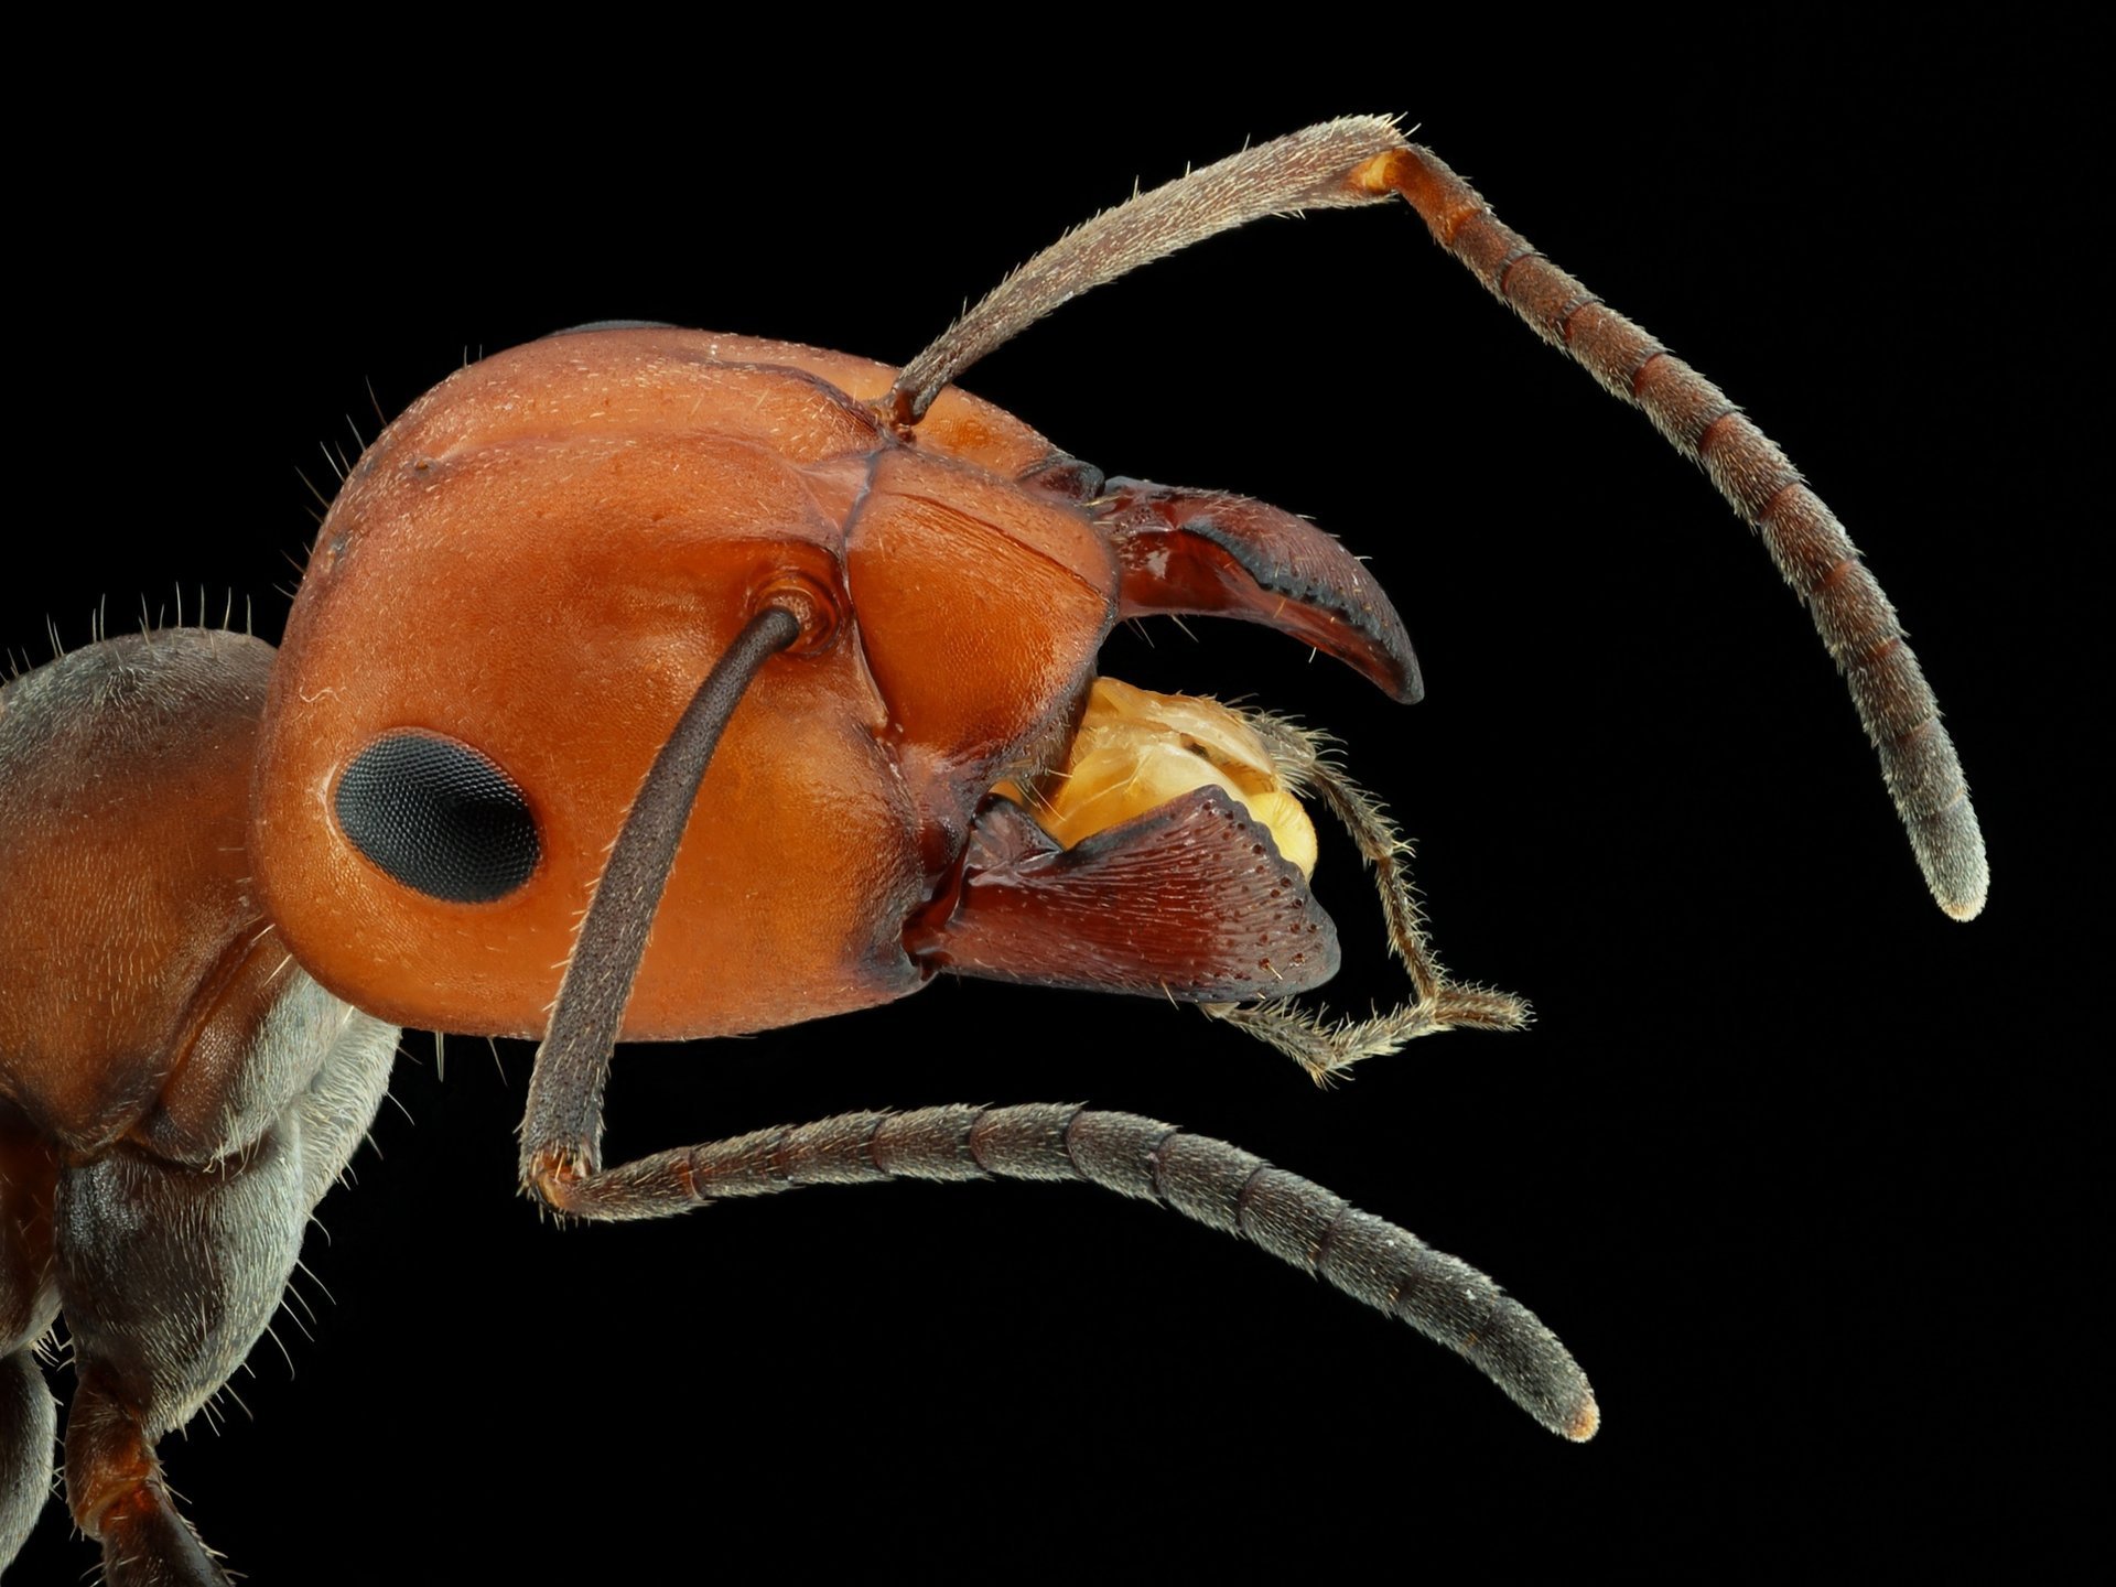
[[(2099, 1244), (2105, 851), (2080, 762), (2108, 514), (2084, 491), (2103, 423), (2065, 375), (2088, 269), (2067, 182), (2099, 193), (2099, 161), (2053, 61), (1786, 40), (1532, 93), (1416, 51), (1314, 93), (988, 61), (978, 87), (787, 74), (760, 110), (635, 59), (449, 72), (417, 110), (131, 106), (123, 163), (34, 178), (32, 209), (66, 195), (76, 220), (38, 233), (49, 288), (17, 328), (15, 463), (47, 501), (4, 580), (17, 664), (49, 656), (47, 614), (72, 645), (97, 603), (174, 618), (178, 588), (186, 620), (203, 586), (275, 635), (313, 531), (296, 472), (328, 493), (324, 453), (466, 351), (637, 315), (904, 360), (1134, 178), (1407, 108), (1841, 512), (1993, 853), (1983, 920), (1932, 908), (1750, 535), (1416, 220), (1257, 224), (965, 385), (1111, 472), (1246, 491), (1371, 557), (1426, 669), (1416, 709), (1232, 624), (1119, 633), (1107, 669), (1342, 736), (1420, 842), (1445, 961), (1536, 1026), (1318, 1092), (1189, 1011), (942, 982), (626, 1050), (609, 1147), (942, 1100), (1176, 1119), (1492, 1272), (1593, 1375), (1602, 1437), (1568, 1447), (1401, 1325), (1077, 1187), (554, 1232), (512, 1189), (527, 1047), (495, 1066), (451, 1041), (442, 1079), (417, 1037), (358, 1189), (320, 1208), (315, 1342), (279, 1320), (296, 1375), (262, 1344), (250, 1416), (163, 1445), (205, 1536), (262, 1583), (717, 1574), (760, 1547), (980, 1576), (2059, 1547), (2105, 1399), (2076, 1267)], [(1399, 997), (1342, 846), (1320, 887), (1348, 942), (1327, 1001)], [(11, 1581), (89, 1557), (53, 1507)]]

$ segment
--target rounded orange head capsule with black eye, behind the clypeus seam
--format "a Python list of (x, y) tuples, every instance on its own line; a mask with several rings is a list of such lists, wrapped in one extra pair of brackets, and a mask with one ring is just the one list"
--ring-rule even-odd
[(719, 745), (626, 1030), (758, 1028), (916, 984), (897, 942), (914, 821), (840, 557), (876, 427), (764, 364), (789, 351), (552, 336), (461, 370), (362, 457), (252, 785), (258, 884), (334, 992), (402, 1024), (540, 1033), (647, 766), (764, 605), (802, 637)]

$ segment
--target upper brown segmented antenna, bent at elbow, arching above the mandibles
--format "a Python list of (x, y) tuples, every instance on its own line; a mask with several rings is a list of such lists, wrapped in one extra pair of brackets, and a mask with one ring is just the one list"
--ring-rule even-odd
[(1962, 762), (1896, 609), (1843, 525), (1712, 381), (1543, 258), (1390, 121), (1354, 116), (1308, 127), (1096, 216), (1009, 275), (906, 364), (876, 408), (899, 430), (914, 425), (946, 383), (1066, 298), (1212, 233), (1274, 212), (1380, 203), (1394, 195), (1538, 336), (1610, 396), (1642, 408), (1763, 537), (1852, 690), (1932, 897), (1953, 918), (1974, 918), (1991, 870)]

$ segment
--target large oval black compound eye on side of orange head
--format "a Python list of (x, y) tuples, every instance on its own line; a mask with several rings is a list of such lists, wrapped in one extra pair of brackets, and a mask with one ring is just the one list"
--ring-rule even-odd
[(529, 880), (542, 844), (514, 779), (470, 745), (391, 732), (339, 779), (339, 829), (389, 876), (451, 904), (491, 904)]

